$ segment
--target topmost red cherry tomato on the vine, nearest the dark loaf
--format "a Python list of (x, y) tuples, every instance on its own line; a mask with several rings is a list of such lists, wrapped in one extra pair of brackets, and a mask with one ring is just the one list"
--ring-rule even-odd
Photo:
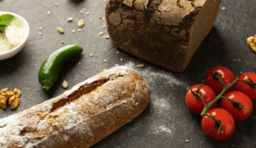
[[(220, 94), (223, 91), (223, 84), (221, 84), (220, 81), (218, 80), (213, 80), (213, 75), (211, 72), (214, 74), (215, 70), (217, 70), (218, 75), (222, 75), (221, 79), (223, 80), (223, 83), (228, 86), (230, 83), (232, 83), (235, 79), (234, 74), (227, 69), (226, 67), (222, 66), (216, 66), (212, 67), (206, 74), (205, 76), (205, 84), (213, 88), (213, 90), (216, 92), (216, 94)], [(210, 72), (211, 71), (211, 72)], [(231, 86), (226, 92), (230, 92), (231, 90), (234, 89), (234, 85)], [(225, 93), (226, 93), (225, 92)]]

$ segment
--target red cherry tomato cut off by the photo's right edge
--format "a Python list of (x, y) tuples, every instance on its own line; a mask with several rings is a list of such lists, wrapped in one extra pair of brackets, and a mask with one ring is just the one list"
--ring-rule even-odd
[[(253, 81), (253, 83), (256, 83), (256, 73), (243, 73), (238, 77), (240, 80), (247, 80), (249, 81), (248, 77)], [(256, 95), (255, 94), (255, 88), (251, 88), (248, 84), (241, 83), (241, 81), (238, 81), (236, 84), (236, 90), (240, 92), (244, 92), (251, 98), (251, 100), (256, 100)]]

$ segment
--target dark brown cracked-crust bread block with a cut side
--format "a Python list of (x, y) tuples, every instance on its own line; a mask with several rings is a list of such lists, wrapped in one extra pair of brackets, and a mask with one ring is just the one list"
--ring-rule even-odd
[(106, 28), (118, 48), (184, 71), (213, 27), (221, 0), (108, 0)]

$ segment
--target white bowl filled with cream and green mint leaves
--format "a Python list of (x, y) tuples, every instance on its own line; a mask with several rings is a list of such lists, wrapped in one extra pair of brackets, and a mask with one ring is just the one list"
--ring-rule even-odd
[(24, 47), (30, 28), (22, 16), (0, 12), (0, 60), (11, 58)]

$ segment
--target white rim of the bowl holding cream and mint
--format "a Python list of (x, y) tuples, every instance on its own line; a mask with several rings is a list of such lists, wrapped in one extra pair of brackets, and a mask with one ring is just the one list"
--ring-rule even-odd
[(25, 18), (23, 18), (22, 16), (20, 16), (19, 14), (16, 14), (16, 13), (13, 13), (13, 12), (7, 12), (7, 11), (0, 11), (0, 15), (3, 15), (3, 14), (12, 14), (14, 15), (15, 17), (18, 17), (22, 20), (22, 22), (25, 23), (25, 25), (27, 26), (28, 28), (28, 31), (26, 31), (26, 37), (24, 39), (24, 41), (22, 41), (22, 43), (20, 43), (20, 45), (16, 46), (15, 48), (12, 48), (11, 50), (7, 51), (7, 52), (3, 52), (3, 53), (0, 53), (0, 56), (3, 56), (5, 54), (9, 54), (10, 52), (13, 52), (14, 50), (18, 49), (20, 46), (22, 46), (28, 39), (28, 36), (30, 35), (30, 26), (28, 25), (28, 22), (25, 20)]

